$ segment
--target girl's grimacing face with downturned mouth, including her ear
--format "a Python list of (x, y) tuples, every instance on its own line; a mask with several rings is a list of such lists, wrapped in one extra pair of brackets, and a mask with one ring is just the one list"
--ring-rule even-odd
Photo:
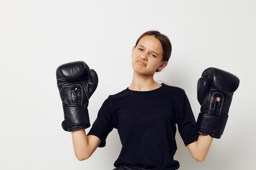
[(132, 49), (132, 68), (139, 74), (152, 75), (167, 64), (167, 61), (163, 61), (162, 44), (153, 35), (141, 38)]

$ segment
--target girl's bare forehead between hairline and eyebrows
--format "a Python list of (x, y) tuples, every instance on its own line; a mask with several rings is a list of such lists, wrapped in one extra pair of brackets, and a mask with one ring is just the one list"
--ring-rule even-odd
[(161, 42), (155, 38), (154, 35), (146, 35), (142, 37), (138, 44), (138, 46), (144, 46), (145, 48), (152, 50), (152, 51), (157, 51), (158, 53), (163, 52), (162, 44)]

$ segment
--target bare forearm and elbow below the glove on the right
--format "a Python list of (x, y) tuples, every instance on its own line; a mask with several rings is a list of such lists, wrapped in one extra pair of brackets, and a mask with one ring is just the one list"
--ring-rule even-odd
[(213, 137), (210, 135), (199, 135), (198, 140), (189, 144), (187, 147), (192, 157), (197, 161), (204, 161), (207, 156), (207, 153), (211, 147)]

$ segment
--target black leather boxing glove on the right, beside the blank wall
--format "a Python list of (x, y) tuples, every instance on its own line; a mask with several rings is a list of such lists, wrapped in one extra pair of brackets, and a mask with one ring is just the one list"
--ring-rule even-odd
[[(239, 85), (235, 75), (218, 68), (207, 68), (198, 79), (198, 102), (201, 105), (197, 130), (219, 139), (228, 119), (229, 106)], [(220, 101), (216, 101), (220, 97)]]

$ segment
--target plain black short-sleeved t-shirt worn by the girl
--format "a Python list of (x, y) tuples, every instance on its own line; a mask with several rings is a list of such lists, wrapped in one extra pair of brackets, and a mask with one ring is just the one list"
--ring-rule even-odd
[(99, 147), (104, 147), (108, 134), (117, 128), (122, 149), (115, 167), (174, 170), (179, 168), (179, 162), (173, 160), (176, 124), (185, 146), (198, 139), (183, 89), (166, 84), (152, 91), (127, 88), (106, 99), (88, 135), (99, 137)]

